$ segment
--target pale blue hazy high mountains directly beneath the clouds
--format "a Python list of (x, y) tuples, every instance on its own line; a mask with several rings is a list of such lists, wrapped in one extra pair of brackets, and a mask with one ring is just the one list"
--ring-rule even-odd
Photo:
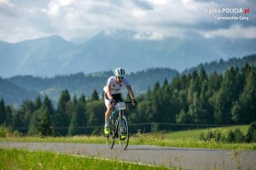
[(124, 67), (128, 72), (153, 67), (183, 71), (216, 59), (255, 54), (253, 44), (255, 39), (204, 38), (195, 34), (145, 40), (138, 39), (133, 31), (124, 30), (102, 31), (79, 43), (59, 36), (0, 42), (0, 77), (55, 77), (116, 67)]

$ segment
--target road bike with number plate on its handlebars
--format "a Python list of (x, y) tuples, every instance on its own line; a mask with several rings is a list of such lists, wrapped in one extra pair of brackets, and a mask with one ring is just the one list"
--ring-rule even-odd
[(131, 104), (131, 102), (119, 102), (112, 107), (113, 111), (108, 120), (110, 134), (105, 135), (109, 149), (113, 149), (115, 139), (119, 139), (119, 145), (123, 150), (126, 150), (128, 146), (129, 126), (125, 116), (127, 115), (126, 104)]

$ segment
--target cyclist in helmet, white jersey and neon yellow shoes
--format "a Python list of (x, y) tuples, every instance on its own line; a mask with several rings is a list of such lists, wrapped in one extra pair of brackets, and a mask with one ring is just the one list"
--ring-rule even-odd
[[(111, 114), (112, 106), (117, 102), (123, 101), (121, 98), (121, 88), (127, 89), (131, 97), (131, 105), (137, 105), (137, 101), (134, 99), (134, 94), (131, 89), (130, 82), (125, 78), (125, 70), (122, 68), (117, 68), (114, 70), (114, 77), (109, 77), (107, 85), (104, 87), (104, 99), (107, 111), (105, 113), (105, 126), (104, 133), (108, 135), (110, 133), (108, 119)], [(125, 133), (125, 132), (124, 132)], [(121, 139), (125, 139), (125, 135), (120, 134)]]

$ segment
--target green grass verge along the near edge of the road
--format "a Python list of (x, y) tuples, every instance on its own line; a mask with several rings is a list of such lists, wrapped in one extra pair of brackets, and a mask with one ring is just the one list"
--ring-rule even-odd
[[(47, 151), (7, 150), (0, 148), (0, 169), (167, 169), (137, 163), (71, 156)], [(170, 168), (168, 168), (170, 169)]]

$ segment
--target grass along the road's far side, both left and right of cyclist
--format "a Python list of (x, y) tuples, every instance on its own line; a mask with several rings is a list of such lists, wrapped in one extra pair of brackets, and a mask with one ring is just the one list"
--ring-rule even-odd
[[(224, 129), (225, 135), (230, 130), (240, 128), (241, 132), (246, 134), (248, 126), (220, 127)], [(256, 143), (224, 143), (211, 141), (202, 141), (200, 134), (208, 128), (186, 130), (173, 133), (145, 133), (131, 136), (129, 144), (159, 145), (168, 147), (182, 148), (207, 148), (207, 149), (226, 149), (226, 150), (256, 150)], [(0, 141), (13, 142), (55, 142), (55, 143), (86, 143), (86, 144), (105, 144), (103, 136), (73, 136), (73, 137), (7, 137), (0, 138)]]

